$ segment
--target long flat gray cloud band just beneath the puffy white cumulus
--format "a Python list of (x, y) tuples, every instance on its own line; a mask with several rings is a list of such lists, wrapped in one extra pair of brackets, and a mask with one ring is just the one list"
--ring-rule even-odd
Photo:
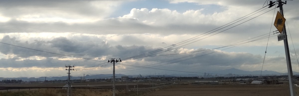
[[(120, 21), (125, 19), (126, 21)], [(1, 33), (11, 32), (74, 32), (74, 33), (86, 33), (86, 34), (186, 34), (186, 33), (198, 33), (207, 32), (216, 28), (213, 25), (196, 24), (196, 25), (169, 25), (166, 27), (154, 27), (130, 18), (114, 18), (106, 19), (103, 21), (97, 21), (93, 23), (77, 23), (68, 24), (65, 22), (28, 22), (10, 20), (8, 22), (0, 22), (2, 26), (0, 28)], [(188, 30), (188, 31), (186, 31)]]

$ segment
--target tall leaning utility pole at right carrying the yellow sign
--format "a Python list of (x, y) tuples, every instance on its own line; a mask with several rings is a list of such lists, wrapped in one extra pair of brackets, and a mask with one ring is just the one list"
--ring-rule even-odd
[[(286, 4), (286, 2), (282, 2), (281, 0), (278, 0), (278, 6), (280, 9), (280, 14), (283, 16), (283, 4)], [(283, 16), (284, 17), (284, 16)], [(288, 38), (287, 38), (287, 34), (286, 34), (286, 25), (283, 25), (283, 34), (286, 35), (286, 39), (283, 40), (284, 42), (284, 49), (286, 52), (286, 64), (288, 67), (288, 75), (289, 75), (289, 85), (290, 85), (290, 91), (291, 91), (291, 96), (296, 96), (296, 92), (294, 89), (294, 81), (293, 81), (293, 71), (292, 71), (292, 64), (291, 64), (291, 58), (290, 58), (290, 52), (289, 52), (289, 44), (288, 44)]]

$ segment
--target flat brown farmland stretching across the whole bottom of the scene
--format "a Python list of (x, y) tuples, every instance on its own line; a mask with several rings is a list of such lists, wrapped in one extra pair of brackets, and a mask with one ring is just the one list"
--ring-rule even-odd
[[(179, 83), (179, 82), (178, 82)], [(289, 96), (289, 86), (287, 84), (282, 85), (270, 85), (270, 84), (262, 84), (262, 85), (252, 85), (252, 84), (230, 84), (230, 85), (199, 85), (199, 84), (174, 84), (166, 87), (155, 88), (154, 91), (152, 89), (149, 90), (140, 90), (139, 95), (141, 96)], [(95, 85), (95, 83), (73, 83), (73, 86), (80, 86), (82, 87), (97, 87), (97, 88), (109, 88), (104, 89), (105, 91), (100, 91), (96, 89), (74, 89), (74, 96), (111, 96), (112, 88), (111, 82), (101, 82), (96, 83), (96, 86), (86, 86), (86, 85)], [(121, 89), (126, 89), (126, 83), (116, 83), (120, 85), (116, 85), (118, 90), (117, 96), (137, 96), (136, 90), (125, 91)], [(129, 84), (136, 84), (136, 83), (129, 83)], [(64, 83), (31, 83), (31, 84), (0, 84), (0, 86), (63, 86)], [(137, 88), (137, 85), (129, 85), (129, 89)], [(151, 88), (152, 86), (149, 83), (139, 83), (139, 88)], [(155, 86), (154, 86), (155, 87)], [(47, 93), (49, 90), (54, 92), (51, 93), (51, 96), (58, 96), (55, 94), (55, 91), (59, 93), (60, 96), (65, 96), (65, 91), (63, 89), (44, 89), (45, 92), (42, 90), (31, 90), (23, 89), (23, 91), (16, 91), (12, 90), (11, 92), (0, 92), (0, 96), (10, 96), (12, 94), (27, 94), (23, 92), (33, 92), (30, 93), (32, 95), (26, 96), (39, 96), (43, 94), (44, 96), (50, 96), (50, 93)], [(61, 91), (59, 91), (61, 90)], [(90, 94), (84, 92), (84, 90), (89, 90)], [(100, 92), (100, 94), (99, 94)], [(141, 93), (142, 92), (142, 93)], [(299, 87), (296, 87), (296, 92), (299, 93)], [(33, 95), (35, 94), (36, 95)], [(91, 94), (92, 93), (92, 94)], [(10, 95), (4, 95), (10, 94)], [(28, 93), (29, 94), (29, 93)], [(84, 95), (83, 95), (84, 94)], [(299, 95), (299, 94), (297, 94)], [(17, 96), (17, 95), (16, 95)], [(25, 95), (24, 95), (25, 96)]]

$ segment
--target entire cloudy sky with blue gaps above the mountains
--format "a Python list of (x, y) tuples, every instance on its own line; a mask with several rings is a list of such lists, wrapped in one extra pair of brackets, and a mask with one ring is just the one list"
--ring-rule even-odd
[[(115, 63), (115, 71), (125, 75), (203, 75), (199, 73), (231, 68), (284, 73), (284, 44), (277, 41), (279, 33), (274, 32), (277, 29), (273, 25), (279, 8), (265, 7), (267, 3), (1, 1), (0, 77), (66, 76), (65, 65), (75, 66), (72, 76), (112, 74), (113, 64), (107, 63), (111, 58), (122, 60)], [(296, 72), (298, 4), (294, 0), (283, 5), (292, 69)]]

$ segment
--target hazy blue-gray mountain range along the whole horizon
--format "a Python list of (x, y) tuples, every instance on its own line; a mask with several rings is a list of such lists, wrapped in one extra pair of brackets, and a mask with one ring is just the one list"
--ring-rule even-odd
[[(206, 72), (207, 74), (209, 73), (213, 73), (210, 75), (214, 75), (214, 74), (235, 74), (235, 75), (260, 75), (261, 71), (257, 70), (257, 71), (244, 71), (244, 70), (240, 70), (240, 69), (236, 69), (236, 68), (231, 68), (231, 69), (224, 69), (224, 70), (219, 70), (219, 71), (211, 71), (211, 72)], [(293, 71), (294, 75), (299, 74), (298, 72)], [(280, 73), (280, 72), (276, 72), (276, 71), (262, 71), (262, 75), (280, 75), (280, 74), (284, 74), (286, 75), (286, 73)], [(201, 77), (204, 74), (165, 74), (165, 77)], [(135, 77), (139, 77), (139, 75), (124, 75), (124, 74), (115, 74), (115, 78), (121, 78), (121, 76), (132, 76), (133, 78)], [(218, 75), (218, 76), (223, 76), (223, 75)], [(149, 78), (149, 77), (163, 77), (163, 75), (142, 75), (142, 77), (144, 78)], [(27, 77), (19, 77), (19, 78), (1, 78), (0, 80), (23, 80), (23, 81), (44, 81), (46, 80), (67, 80), (68, 76), (57, 76), (57, 77), (40, 77), (40, 78), (27, 78)], [(99, 75), (86, 75), (86, 76), (72, 76), (71, 80), (79, 80), (79, 79), (102, 79), (102, 78), (112, 78), (112, 74), (99, 74)]]

